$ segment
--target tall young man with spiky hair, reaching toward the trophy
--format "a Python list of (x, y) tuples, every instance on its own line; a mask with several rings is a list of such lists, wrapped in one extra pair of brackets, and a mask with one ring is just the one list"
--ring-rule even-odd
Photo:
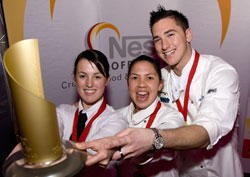
[[(153, 147), (182, 151), (180, 176), (242, 177), (237, 152), (239, 81), (236, 70), (216, 56), (200, 55), (191, 47), (192, 31), (178, 11), (159, 7), (151, 12), (150, 28), (162, 69), (162, 102), (183, 114), (186, 125), (162, 129), (126, 129), (115, 137), (81, 144), (98, 151), (87, 165), (107, 162), (108, 153), (121, 147), (113, 159), (134, 157)], [(161, 141), (157, 141), (159, 138)], [(105, 144), (105, 149), (103, 149)], [(104, 160), (104, 161), (102, 161)]]

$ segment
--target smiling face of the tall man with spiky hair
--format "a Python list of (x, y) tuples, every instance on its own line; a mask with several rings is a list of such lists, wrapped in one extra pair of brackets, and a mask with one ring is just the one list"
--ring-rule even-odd
[(168, 17), (152, 26), (152, 36), (158, 56), (180, 75), (192, 54), (191, 29), (184, 31), (174, 18)]

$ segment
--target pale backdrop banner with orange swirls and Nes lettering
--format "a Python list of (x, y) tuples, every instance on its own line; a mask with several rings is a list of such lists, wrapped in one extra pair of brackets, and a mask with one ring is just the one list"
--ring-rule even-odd
[[(247, 15), (250, 1), (20, 0), (20, 7), (25, 8), (18, 8), (13, 2), (4, 1), (6, 17), (13, 16), (13, 13), (18, 16), (16, 13), (19, 13), (23, 20), (20, 23), (12, 21), (12, 25), (20, 25), (23, 38), (39, 40), (46, 98), (56, 105), (75, 101), (73, 62), (78, 53), (92, 47), (103, 51), (109, 59), (111, 81), (107, 97), (114, 108), (129, 103), (126, 77), (131, 60), (140, 54), (152, 55), (150, 11), (159, 4), (180, 10), (190, 21), (192, 46), (202, 54), (225, 59), (239, 73), (239, 151), (242, 154), (244, 140), (244, 152), (249, 153), (249, 126), (245, 124), (249, 122), (247, 115), (250, 115), (247, 109), (250, 99), (250, 16)], [(15, 10), (7, 10), (11, 6)], [(250, 164), (249, 154), (242, 156), (242, 163), (244, 170), (250, 172), (247, 165)]]

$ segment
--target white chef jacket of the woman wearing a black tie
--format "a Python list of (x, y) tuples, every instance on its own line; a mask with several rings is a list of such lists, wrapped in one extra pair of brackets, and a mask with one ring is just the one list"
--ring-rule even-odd
[[(79, 100), (78, 111), (80, 112), (83, 110), (83, 113), (86, 113), (88, 117), (86, 125), (96, 114), (102, 104), (102, 101), (103, 99), (99, 100), (93, 106), (85, 110), (81, 104), (81, 100)], [(76, 109), (77, 106), (69, 104), (61, 104), (56, 108), (59, 131), (62, 139), (69, 140), (72, 134)], [(106, 105), (104, 112), (102, 112), (102, 114), (100, 114), (99, 117), (92, 123), (86, 141), (112, 136), (115, 133), (127, 128), (127, 126), (128, 123), (121, 116), (121, 114), (116, 113), (111, 106)]]

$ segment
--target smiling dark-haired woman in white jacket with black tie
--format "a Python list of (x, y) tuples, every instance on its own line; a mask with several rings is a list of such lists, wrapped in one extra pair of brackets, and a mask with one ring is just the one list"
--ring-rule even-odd
[[(81, 52), (74, 63), (74, 80), (79, 101), (74, 105), (57, 107), (60, 135), (63, 139), (86, 141), (110, 136), (125, 128), (127, 123), (106, 104), (104, 92), (109, 83), (109, 63), (106, 56), (97, 50)], [(87, 115), (86, 126), (75, 137), (78, 115)], [(107, 119), (108, 117), (108, 119)]]

